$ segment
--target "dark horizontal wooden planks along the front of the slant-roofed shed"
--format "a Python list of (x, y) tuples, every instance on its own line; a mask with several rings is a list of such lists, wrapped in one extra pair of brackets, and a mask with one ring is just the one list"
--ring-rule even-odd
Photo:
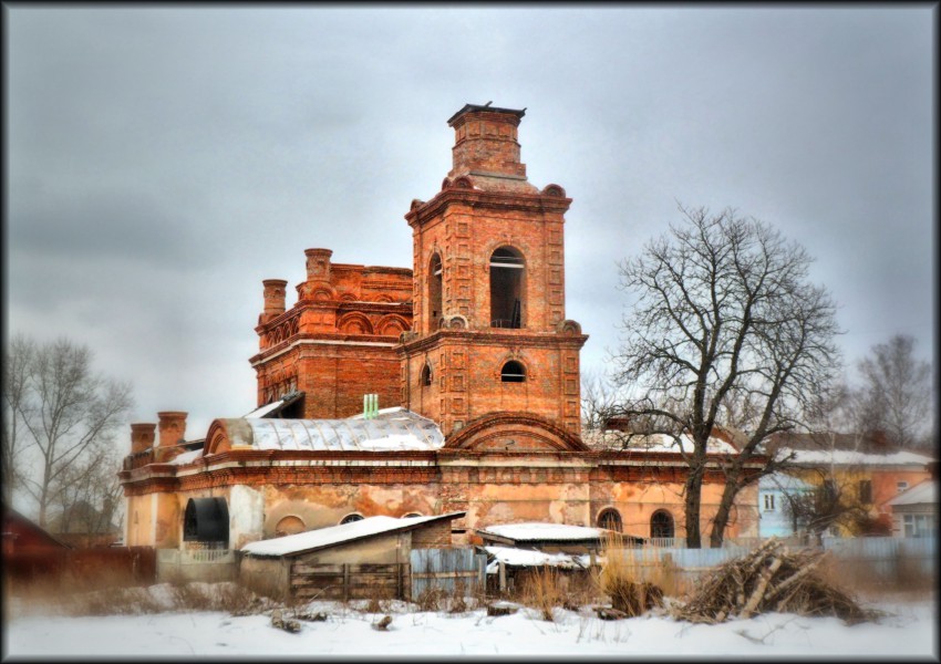
[(291, 598), (296, 600), (407, 600), (409, 563), (306, 564), (293, 561)]

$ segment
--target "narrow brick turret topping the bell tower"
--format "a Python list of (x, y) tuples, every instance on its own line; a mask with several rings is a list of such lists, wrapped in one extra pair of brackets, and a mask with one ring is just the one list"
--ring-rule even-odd
[(526, 165), (519, 162), (517, 127), (526, 108), (496, 108), (467, 104), (451, 116), (454, 127), (452, 148), (454, 167), (449, 178), (476, 173), (526, 178)]

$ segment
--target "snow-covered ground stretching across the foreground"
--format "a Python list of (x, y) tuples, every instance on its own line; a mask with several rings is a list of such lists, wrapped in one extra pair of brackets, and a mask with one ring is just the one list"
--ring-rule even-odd
[[(589, 609), (556, 610), (541, 620), (531, 609), (487, 616), (417, 612), (401, 602), (384, 613), (362, 605), (316, 602), (325, 622), (301, 621), (299, 633), (271, 626), (265, 614), (164, 612), (143, 615), (70, 618), (11, 611), (4, 626), (6, 657), (192, 657), (225, 658), (344, 656), (410, 657), (438, 655), (571, 657), (828, 657), (938, 661), (934, 600), (867, 603), (889, 615), (854, 626), (835, 618), (764, 614), (718, 625), (691, 624), (663, 615), (602, 621)], [(373, 625), (389, 614), (387, 631)], [(290, 618), (289, 611), (285, 612)]]

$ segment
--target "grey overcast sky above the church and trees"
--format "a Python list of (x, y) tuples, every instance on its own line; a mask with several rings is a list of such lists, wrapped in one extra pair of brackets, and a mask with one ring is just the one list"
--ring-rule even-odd
[(937, 7), (3, 10), (7, 333), (91, 346), (133, 422), (187, 411), (197, 438), (256, 405), (261, 281), (290, 307), (304, 249), (411, 268), (446, 121), (489, 101), (573, 198), (583, 371), (618, 345), (617, 262), (678, 201), (804, 245), (848, 361), (933, 353)]

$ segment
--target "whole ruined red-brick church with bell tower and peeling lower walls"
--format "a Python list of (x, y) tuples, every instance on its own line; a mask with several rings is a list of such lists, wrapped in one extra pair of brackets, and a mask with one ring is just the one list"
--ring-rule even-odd
[[(528, 181), (523, 117), (468, 104), (448, 120), (453, 168), (405, 214), (411, 270), (308, 249), (292, 307), (285, 280), (263, 281), (258, 408), (190, 442), (183, 412), (132, 425), (128, 544), (239, 548), (366, 516), (455, 511), (466, 512), (456, 541), (515, 521), (682, 536), (678, 454), (581, 439), (588, 338), (565, 308), (571, 199)], [(370, 397), (363, 412), (364, 395), (383, 408)], [(714, 467), (706, 519), (722, 486)], [(754, 533), (753, 511), (738, 510), (730, 536)]]

